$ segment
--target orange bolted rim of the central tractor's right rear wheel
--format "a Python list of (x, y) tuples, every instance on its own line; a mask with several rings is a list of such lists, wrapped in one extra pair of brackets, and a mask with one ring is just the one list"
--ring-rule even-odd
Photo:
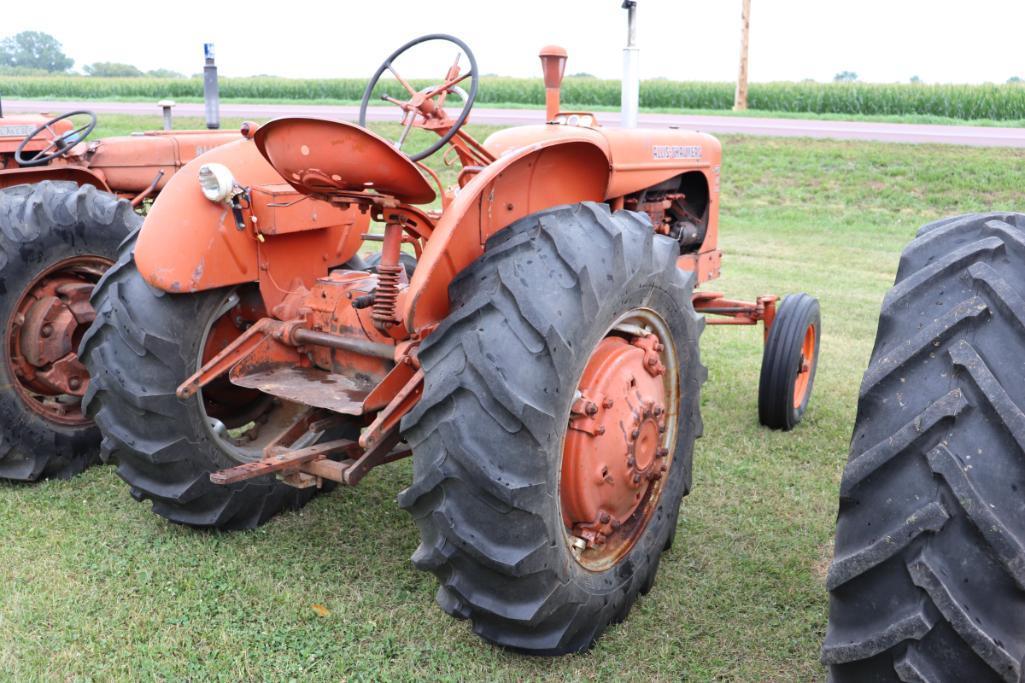
[(672, 464), (680, 371), (672, 335), (650, 309), (619, 318), (584, 367), (563, 444), (560, 503), (574, 559), (617, 564), (644, 535)]

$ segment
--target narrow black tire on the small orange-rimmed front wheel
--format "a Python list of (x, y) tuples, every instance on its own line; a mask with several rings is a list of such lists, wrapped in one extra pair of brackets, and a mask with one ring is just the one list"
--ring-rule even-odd
[[(815, 352), (808, 370), (808, 388), (804, 399), (794, 405), (794, 389), (802, 364), (805, 332), (815, 328)], [(819, 344), (822, 321), (819, 302), (805, 293), (783, 299), (776, 319), (769, 328), (762, 352), (762, 376), (758, 380), (758, 420), (766, 427), (787, 432), (805, 416), (812, 398), (815, 371), (819, 364)]]

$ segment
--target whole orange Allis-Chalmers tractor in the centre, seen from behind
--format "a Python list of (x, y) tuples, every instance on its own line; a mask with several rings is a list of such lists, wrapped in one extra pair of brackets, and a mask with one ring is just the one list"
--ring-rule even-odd
[[(457, 57), (418, 90), (394, 62), (430, 40)], [(246, 125), (170, 179), (80, 348), (86, 415), (136, 498), (250, 527), (412, 453), (399, 501), (448, 613), (548, 654), (625, 617), (691, 487), (701, 314), (765, 324), (761, 417), (789, 429), (818, 304), (695, 292), (720, 272), (720, 144), (560, 111), (566, 52), (541, 61), (545, 125), (474, 139), (473, 53), (430, 35), (377, 70), (360, 125)], [(405, 90), (384, 95), (394, 142), (365, 127), (384, 72)], [(406, 152), (414, 127), (439, 139)], [(418, 162), (445, 145), (461, 169), (436, 190)]]

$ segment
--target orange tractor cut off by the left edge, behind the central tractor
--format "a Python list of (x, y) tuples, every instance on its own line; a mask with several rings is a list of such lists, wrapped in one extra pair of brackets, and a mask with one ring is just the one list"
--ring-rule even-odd
[[(82, 121), (84, 123), (81, 123)], [(79, 122), (81, 123), (75, 123)], [(89, 294), (141, 223), (133, 211), (238, 132), (147, 132), (86, 142), (90, 112), (0, 114), (0, 478), (67, 478), (99, 454), (76, 355)]]

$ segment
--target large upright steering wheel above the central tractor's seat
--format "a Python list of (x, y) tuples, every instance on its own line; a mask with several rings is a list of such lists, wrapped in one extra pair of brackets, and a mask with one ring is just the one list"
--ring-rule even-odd
[[(429, 40), (448, 41), (457, 46), (460, 52), (456, 54), (455, 62), (451, 67), (449, 67), (448, 72), (445, 74), (445, 81), (442, 84), (433, 85), (422, 90), (416, 90), (409, 84), (409, 81), (399, 75), (399, 72), (392, 67), (392, 63), (410, 48)], [(459, 66), (459, 62), (463, 54), (466, 55), (466, 59), (469, 62), (469, 71), (466, 71), (465, 73), (463, 73), (462, 68)], [(408, 156), (411, 161), (425, 159), (445, 147), (445, 145), (455, 136), (462, 124), (465, 123), (466, 117), (469, 116), (469, 110), (474, 107), (474, 101), (477, 99), (477, 87), (480, 85), (480, 76), (477, 72), (477, 59), (474, 57), (474, 52), (469, 49), (466, 43), (462, 42), (455, 36), (449, 36), (444, 33), (432, 33), (426, 36), (414, 38), (397, 49), (395, 52), (392, 52), (392, 54), (384, 59), (384, 64), (382, 64), (377, 71), (374, 72), (373, 77), (367, 84), (367, 89), (363, 91), (363, 102), (360, 103), (361, 126), (366, 127), (367, 125), (367, 105), (370, 104), (370, 97), (374, 92), (374, 88), (377, 87), (377, 82), (380, 80), (385, 71), (391, 72), (392, 75), (395, 76), (395, 79), (399, 81), (402, 87), (404, 87), (409, 93), (409, 99), (405, 102), (396, 99), (387, 94), (381, 95), (381, 99), (396, 105), (403, 111), (403, 129), (399, 139), (395, 140), (396, 148), (400, 150), (402, 149), (403, 144), (406, 142), (406, 137), (409, 135), (410, 129), (414, 125), (419, 128), (448, 127), (448, 131), (445, 132), (434, 145), (416, 152), (415, 154), (406, 153), (406, 156)], [(467, 78), (469, 79), (468, 92), (464, 91), (461, 87), (457, 87), (460, 82), (466, 80)], [(457, 116), (454, 121), (448, 118), (444, 109), (445, 97), (453, 92), (459, 95), (459, 97), (463, 101), (462, 111), (459, 112), (459, 116)], [(417, 120), (420, 120), (420, 122), (417, 123)]]

